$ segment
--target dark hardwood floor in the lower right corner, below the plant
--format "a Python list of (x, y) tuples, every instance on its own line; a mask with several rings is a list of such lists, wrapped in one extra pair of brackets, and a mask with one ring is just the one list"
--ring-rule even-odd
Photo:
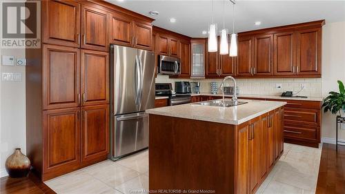
[(316, 193), (345, 192), (345, 146), (323, 144)]

